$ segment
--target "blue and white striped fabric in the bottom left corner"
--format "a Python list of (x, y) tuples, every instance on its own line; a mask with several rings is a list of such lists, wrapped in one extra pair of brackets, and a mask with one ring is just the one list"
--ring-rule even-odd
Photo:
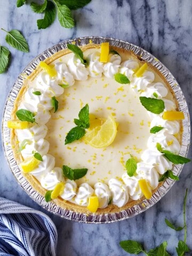
[(0, 256), (54, 256), (56, 246), (46, 214), (0, 197)]

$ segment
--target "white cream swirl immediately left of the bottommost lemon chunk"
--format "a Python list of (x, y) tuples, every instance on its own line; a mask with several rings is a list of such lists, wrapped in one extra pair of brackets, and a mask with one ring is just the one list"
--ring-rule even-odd
[(94, 193), (94, 189), (88, 183), (82, 183), (77, 191), (75, 202), (78, 205), (87, 206), (89, 197)]

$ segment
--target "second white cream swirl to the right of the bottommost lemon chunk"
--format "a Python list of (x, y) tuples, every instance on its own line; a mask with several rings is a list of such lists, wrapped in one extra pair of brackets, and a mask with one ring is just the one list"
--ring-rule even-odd
[(112, 203), (118, 207), (122, 207), (129, 200), (129, 193), (122, 181), (117, 179), (109, 180), (109, 189), (111, 190)]

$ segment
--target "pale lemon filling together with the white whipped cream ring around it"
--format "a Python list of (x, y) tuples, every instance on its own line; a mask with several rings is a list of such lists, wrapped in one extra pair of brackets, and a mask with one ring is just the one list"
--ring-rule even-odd
[[(146, 70), (141, 77), (134, 75), (139, 63), (127, 59), (126, 53), (121, 57), (110, 54), (107, 63), (99, 61), (99, 49), (86, 50), (84, 55), (89, 60), (87, 67), (69, 53), (52, 63), (57, 70), (56, 77), (41, 71), (29, 84), (18, 109), (35, 113), (37, 124), (17, 130), (20, 145), (25, 139), (31, 141), (21, 155), (24, 159), (33, 156), (34, 151), (42, 155), (43, 161), (31, 174), (47, 190), (64, 182), (61, 198), (87, 206), (89, 197), (95, 194), (99, 198), (99, 208), (107, 207), (110, 201), (121, 207), (131, 199), (142, 197), (139, 180), (147, 180), (155, 189), (159, 175), (172, 168), (172, 163), (156, 149), (157, 142), (175, 154), (180, 150), (174, 136), (180, 130), (179, 122), (165, 121), (162, 114), (148, 112), (139, 97), (163, 99), (165, 110), (175, 110), (175, 103), (153, 71)], [(131, 83), (117, 83), (114, 79), (116, 73), (126, 75)], [(59, 84), (67, 88), (63, 89)], [(35, 95), (34, 91), (41, 95)], [(53, 96), (59, 101), (55, 113), (51, 110)], [(114, 117), (117, 134), (108, 147), (93, 148), (83, 139), (65, 145), (66, 134), (74, 127), (74, 118), (85, 104), (98, 118)], [(151, 134), (150, 128), (154, 126), (163, 129)], [(138, 162), (133, 177), (127, 175), (125, 168), (130, 155)], [(73, 169), (85, 167), (87, 174), (75, 181), (65, 180), (61, 169), (63, 164)]]

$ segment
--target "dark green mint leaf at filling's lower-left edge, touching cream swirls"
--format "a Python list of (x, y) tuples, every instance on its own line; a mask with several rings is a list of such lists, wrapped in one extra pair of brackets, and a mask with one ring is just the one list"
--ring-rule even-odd
[(63, 175), (69, 180), (78, 180), (86, 175), (88, 169), (71, 169), (69, 166), (63, 165), (62, 170)]

